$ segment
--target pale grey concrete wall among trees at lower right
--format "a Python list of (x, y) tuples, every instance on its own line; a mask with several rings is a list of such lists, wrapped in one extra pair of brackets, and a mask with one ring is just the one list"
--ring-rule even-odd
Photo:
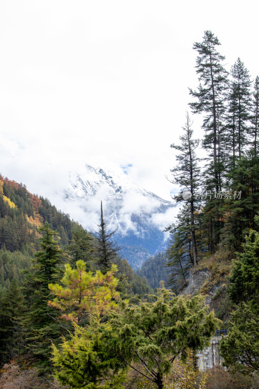
[(210, 369), (213, 366), (222, 366), (223, 358), (219, 354), (221, 336), (213, 336), (210, 346), (197, 353), (197, 367), (200, 370)]

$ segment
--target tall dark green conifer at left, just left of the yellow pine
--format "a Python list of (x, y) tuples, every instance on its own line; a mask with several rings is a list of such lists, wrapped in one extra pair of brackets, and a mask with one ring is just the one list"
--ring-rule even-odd
[(50, 370), (50, 356), (52, 340), (62, 335), (57, 312), (48, 306), (51, 298), (49, 283), (58, 281), (60, 277), (59, 264), (61, 250), (57, 241), (53, 239), (57, 231), (52, 231), (46, 222), (39, 228), (43, 232), (40, 239), (41, 250), (35, 253), (34, 272), (28, 274), (25, 289), (30, 302), (30, 310), (23, 321), (28, 329), (27, 349), (35, 358), (40, 371)]

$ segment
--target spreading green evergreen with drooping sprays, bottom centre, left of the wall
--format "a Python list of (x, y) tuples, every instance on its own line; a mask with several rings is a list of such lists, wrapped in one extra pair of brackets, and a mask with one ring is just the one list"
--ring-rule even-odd
[(155, 302), (122, 302), (121, 312), (111, 314), (104, 343), (107, 351), (121, 357), (124, 366), (162, 389), (164, 374), (174, 359), (181, 354), (185, 360), (189, 349), (202, 349), (220, 320), (214, 312), (208, 313), (201, 296), (175, 296), (162, 287), (152, 297)]

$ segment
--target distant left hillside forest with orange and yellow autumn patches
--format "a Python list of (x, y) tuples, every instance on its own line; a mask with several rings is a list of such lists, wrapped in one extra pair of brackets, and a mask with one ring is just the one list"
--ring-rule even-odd
[[(0, 285), (10, 286), (14, 278), (22, 283), (24, 272), (21, 270), (30, 269), (39, 248), (39, 227), (45, 222), (51, 230), (57, 231), (59, 247), (71, 255), (74, 239), (79, 242), (84, 237), (83, 228), (48, 199), (32, 195), (25, 185), (0, 176)], [(87, 232), (85, 236), (92, 239), (94, 250), (94, 237)], [(127, 269), (127, 277), (133, 282), (136, 293), (151, 292), (146, 280), (137, 277), (126, 261), (121, 261), (119, 267)]]

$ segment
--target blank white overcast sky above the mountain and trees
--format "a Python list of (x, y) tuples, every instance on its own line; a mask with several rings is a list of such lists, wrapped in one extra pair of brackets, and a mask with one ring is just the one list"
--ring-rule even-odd
[(132, 165), (135, 183), (170, 199), (170, 144), (198, 85), (192, 45), (204, 30), (228, 71), (240, 56), (255, 79), (255, 1), (2, 0), (0, 173), (53, 201), (69, 170)]

